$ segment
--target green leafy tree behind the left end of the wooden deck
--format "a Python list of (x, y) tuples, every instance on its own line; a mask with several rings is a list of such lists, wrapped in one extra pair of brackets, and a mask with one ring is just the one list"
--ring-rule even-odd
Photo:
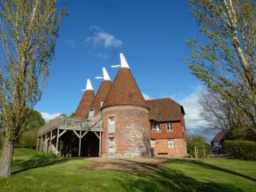
[(45, 124), (45, 120), (37, 110), (32, 110), (24, 133), (18, 138), (19, 146), (34, 148), (38, 138), (38, 129)]

